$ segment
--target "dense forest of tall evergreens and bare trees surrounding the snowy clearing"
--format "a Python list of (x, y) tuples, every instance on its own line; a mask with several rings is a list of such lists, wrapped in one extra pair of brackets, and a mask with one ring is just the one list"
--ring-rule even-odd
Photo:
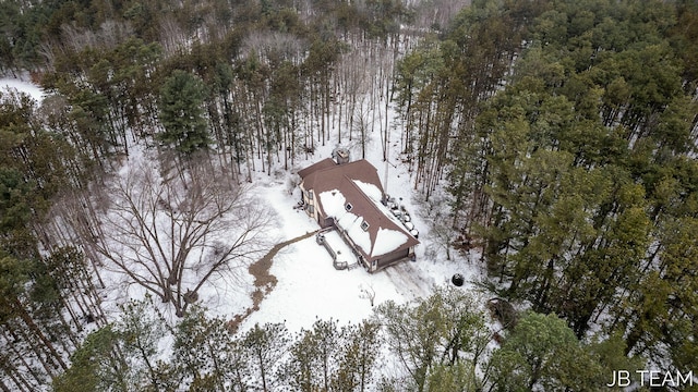
[[(695, 1), (5, 0), (0, 30), (0, 72), (47, 93), (0, 93), (2, 391), (592, 391), (698, 369)], [(390, 135), (420, 197), (445, 192), (446, 246), (481, 249), (479, 286), (520, 311), (490, 304), (503, 330), (446, 287), (298, 334), (196, 306), (269, 247), (253, 172), (326, 144), (387, 159)], [(110, 180), (144, 149), (151, 171)], [(184, 291), (221, 224), (238, 241)], [(178, 322), (155, 299), (106, 315), (106, 262)]]

